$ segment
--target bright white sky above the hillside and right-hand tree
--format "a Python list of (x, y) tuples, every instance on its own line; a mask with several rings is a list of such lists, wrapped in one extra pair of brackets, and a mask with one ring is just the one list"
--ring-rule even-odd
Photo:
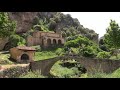
[(120, 12), (62, 12), (77, 18), (85, 28), (93, 29), (99, 38), (106, 33), (110, 19), (115, 20), (120, 26)]

